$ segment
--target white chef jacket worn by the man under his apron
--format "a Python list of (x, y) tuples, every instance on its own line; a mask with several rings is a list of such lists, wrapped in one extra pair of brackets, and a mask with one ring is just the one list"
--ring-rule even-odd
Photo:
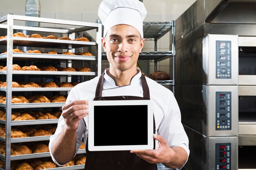
[[(138, 69), (139, 70), (139, 69)], [(97, 83), (99, 81), (99, 76), (91, 79), (90, 81), (85, 81), (79, 83), (72, 88), (69, 95), (67, 96), (66, 103), (74, 100), (93, 100), (95, 97), (95, 91)], [(157, 82), (146, 77), (146, 81), (149, 87), (150, 100), (153, 101), (153, 113), (155, 118), (155, 128), (156, 134), (161, 135), (166, 139), (169, 147), (180, 146), (186, 150), (189, 155), (189, 139), (184, 131), (181, 123), (181, 113), (180, 108), (173, 93), (166, 87), (159, 85)], [(139, 72), (131, 79), (130, 85), (119, 87), (115, 85), (114, 79), (112, 79), (105, 70), (104, 83), (102, 96), (139, 96), (143, 97), (143, 90), (141, 85), (141, 72)], [(89, 113), (90, 114), (90, 113)], [(57, 129), (50, 137), (49, 150), (53, 161), (58, 164), (54, 159), (51, 152), (51, 144), (53, 139), (58, 136), (61, 129), (65, 124), (63, 117), (61, 116), (58, 120)], [(84, 143), (86, 144), (88, 136), (88, 116), (85, 116), (79, 121), (79, 127), (76, 130), (76, 153), (81, 145), (83, 135)], [(156, 148), (158, 141), (155, 140)], [(75, 153), (75, 155), (76, 155)], [(74, 155), (74, 156), (75, 156)], [(181, 168), (180, 168), (181, 169)]]

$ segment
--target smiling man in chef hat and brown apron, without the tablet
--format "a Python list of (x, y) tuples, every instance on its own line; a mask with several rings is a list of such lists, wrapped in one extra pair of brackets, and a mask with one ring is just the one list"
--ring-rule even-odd
[[(189, 140), (175, 97), (137, 68), (145, 42), (144, 4), (139, 0), (103, 0), (99, 17), (104, 25), (101, 42), (110, 67), (101, 76), (80, 83), (70, 91), (57, 130), (50, 138), (52, 159), (63, 165), (76, 155), (83, 135), (84, 142), (88, 141), (91, 100), (152, 100), (155, 149), (92, 152), (86, 144), (85, 170), (157, 170), (156, 163), (181, 169), (189, 156)], [(109, 135), (116, 134), (108, 132), (108, 127), (103, 130)]]

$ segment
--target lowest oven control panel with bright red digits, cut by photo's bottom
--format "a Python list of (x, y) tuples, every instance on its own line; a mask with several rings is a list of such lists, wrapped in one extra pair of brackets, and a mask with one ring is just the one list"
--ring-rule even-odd
[(216, 170), (231, 170), (231, 143), (215, 144)]

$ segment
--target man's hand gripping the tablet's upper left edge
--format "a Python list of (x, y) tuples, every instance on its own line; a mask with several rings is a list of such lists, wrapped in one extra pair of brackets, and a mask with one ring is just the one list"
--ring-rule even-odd
[(62, 107), (62, 116), (66, 122), (67, 130), (75, 131), (79, 120), (88, 115), (88, 100), (75, 100)]

